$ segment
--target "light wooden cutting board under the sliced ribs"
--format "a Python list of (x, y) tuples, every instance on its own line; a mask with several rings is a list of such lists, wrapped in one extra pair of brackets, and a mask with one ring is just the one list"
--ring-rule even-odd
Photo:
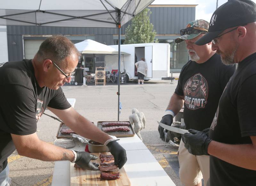
[[(92, 153), (98, 157), (100, 154), (111, 154), (111, 153)], [(100, 164), (100, 158), (92, 160)], [(70, 162), (70, 186), (131, 186), (131, 182), (122, 167), (118, 172), (120, 178), (116, 180), (101, 180), (100, 171), (83, 170), (82, 168), (75, 168), (75, 163)]]

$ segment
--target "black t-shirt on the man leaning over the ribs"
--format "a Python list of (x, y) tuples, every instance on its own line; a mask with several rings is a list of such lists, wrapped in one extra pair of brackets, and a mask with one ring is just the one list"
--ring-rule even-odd
[(62, 89), (41, 88), (36, 81), (31, 60), (0, 64), (0, 172), (15, 150), (11, 133), (28, 135), (36, 132), (36, 123), (47, 106), (67, 109)]

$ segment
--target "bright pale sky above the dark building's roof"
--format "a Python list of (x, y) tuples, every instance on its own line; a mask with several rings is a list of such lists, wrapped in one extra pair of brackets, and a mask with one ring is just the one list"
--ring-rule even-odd
[[(196, 6), (196, 19), (210, 21), (212, 13), (216, 10), (217, 0), (155, 0), (152, 4), (198, 4)], [(218, 0), (218, 7), (227, 0)], [(256, 0), (253, 0), (256, 3)]]

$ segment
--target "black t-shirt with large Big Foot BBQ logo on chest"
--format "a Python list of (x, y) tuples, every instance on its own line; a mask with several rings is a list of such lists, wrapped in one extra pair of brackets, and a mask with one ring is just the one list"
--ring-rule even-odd
[(186, 129), (209, 128), (218, 107), (220, 96), (235, 71), (235, 66), (222, 64), (214, 54), (204, 63), (188, 61), (180, 72), (175, 93), (184, 96)]

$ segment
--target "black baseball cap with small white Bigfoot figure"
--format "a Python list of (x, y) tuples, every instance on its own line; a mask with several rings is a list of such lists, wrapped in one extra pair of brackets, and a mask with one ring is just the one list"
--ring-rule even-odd
[(228, 0), (212, 14), (208, 33), (195, 42), (204, 45), (211, 42), (227, 28), (256, 21), (256, 4), (251, 0)]

